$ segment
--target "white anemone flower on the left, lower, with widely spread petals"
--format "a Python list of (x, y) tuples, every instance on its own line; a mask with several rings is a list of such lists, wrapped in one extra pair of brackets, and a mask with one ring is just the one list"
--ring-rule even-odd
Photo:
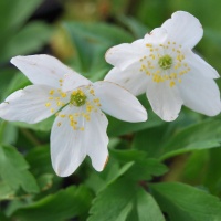
[(147, 119), (146, 109), (128, 91), (110, 82), (92, 83), (52, 56), (17, 56), (11, 63), (33, 85), (8, 96), (0, 117), (33, 124), (55, 114), (51, 158), (61, 177), (74, 172), (87, 155), (95, 170), (104, 169), (108, 120), (102, 110), (126, 122)]

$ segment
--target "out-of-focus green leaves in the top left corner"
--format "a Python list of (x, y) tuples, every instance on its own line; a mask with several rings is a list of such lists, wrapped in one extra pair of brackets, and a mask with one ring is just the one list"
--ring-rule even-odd
[[(8, 62), (12, 56), (38, 51), (46, 43), (51, 35), (51, 27), (42, 22), (30, 22), (24, 25), (41, 2), (42, 0), (0, 2), (0, 62)], [(34, 38), (36, 34), (39, 38)]]

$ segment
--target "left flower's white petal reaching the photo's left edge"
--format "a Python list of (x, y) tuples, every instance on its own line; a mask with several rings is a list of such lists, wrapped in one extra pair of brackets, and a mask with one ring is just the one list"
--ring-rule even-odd
[[(31, 85), (12, 93), (0, 104), (0, 117), (30, 124), (48, 118), (61, 108), (55, 99), (49, 99), (52, 97), (49, 94), (51, 90), (50, 86)], [(59, 96), (59, 93), (55, 92), (53, 96)], [(48, 103), (50, 106), (46, 106)]]

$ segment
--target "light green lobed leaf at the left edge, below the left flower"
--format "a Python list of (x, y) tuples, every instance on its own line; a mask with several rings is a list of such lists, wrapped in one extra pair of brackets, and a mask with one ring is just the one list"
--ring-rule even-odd
[(39, 187), (28, 169), (27, 161), (13, 147), (0, 146), (0, 177), (2, 180), (13, 190), (22, 188), (25, 192), (36, 193)]

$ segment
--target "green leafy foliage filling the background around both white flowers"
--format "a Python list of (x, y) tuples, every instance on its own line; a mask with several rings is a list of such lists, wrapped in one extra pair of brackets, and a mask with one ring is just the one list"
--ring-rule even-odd
[[(143, 38), (177, 10), (199, 18), (204, 35), (196, 51), (221, 72), (217, 0), (60, 1), (64, 11), (56, 25), (30, 20), (42, 2), (0, 1), (1, 102), (31, 84), (9, 66), (12, 56), (44, 53), (48, 45), (48, 53), (99, 81), (112, 69), (105, 61), (110, 46)], [(78, 20), (77, 14), (70, 17), (72, 7)], [(95, 11), (93, 22), (81, 21)], [(61, 27), (65, 38), (54, 32)], [(86, 159), (69, 178), (57, 177), (51, 165), (54, 116), (32, 125), (0, 119), (0, 220), (220, 221), (220, 116), (209, 118), (182, 107), (175, 122), (166, 123), (146, 95), (138, 99), (148, 110), (147, 122), (107, 116), (109, 160), (104, 171), (94, 171)]]

